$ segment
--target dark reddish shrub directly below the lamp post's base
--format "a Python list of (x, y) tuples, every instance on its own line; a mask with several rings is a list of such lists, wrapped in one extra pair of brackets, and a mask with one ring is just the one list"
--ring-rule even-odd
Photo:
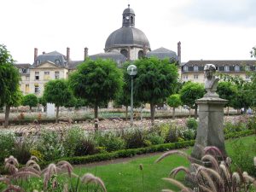
[(142, 129), (131, 129), (125, 131), (123, 138), (125, 139), (126, 148), (143, 148), (145, 144), (145, 132)]

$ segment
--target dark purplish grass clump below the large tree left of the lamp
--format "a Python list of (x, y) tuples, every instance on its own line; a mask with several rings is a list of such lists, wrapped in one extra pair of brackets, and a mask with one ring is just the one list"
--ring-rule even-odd
[(79, 143), (76, 145), (74, 155), (75, 156), (83, 156), (87, 154), (96, 154), (98, 151), (96, 150), (96, 143), (90, 137), (82, 138)]

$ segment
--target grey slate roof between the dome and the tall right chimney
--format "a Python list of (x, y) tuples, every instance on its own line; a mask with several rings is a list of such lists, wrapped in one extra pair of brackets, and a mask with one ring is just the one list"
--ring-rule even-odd
[(173, 58), (177, 61), (177, 54), (176, 52), (166, 49), (164, 47), (160, 47), (159, 49), (154, 49), (146, 54), (147, 57), (156, 56), (159, 59), (165, 58)]

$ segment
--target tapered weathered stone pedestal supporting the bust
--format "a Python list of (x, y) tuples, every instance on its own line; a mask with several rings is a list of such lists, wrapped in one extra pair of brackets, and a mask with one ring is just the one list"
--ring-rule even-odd
[(219, 148), (224, 156), (224, 105), (227, 100), (219, 97), (202, 97), (195, 101), (199, 108), (199, 126), (195, 139), (195, 147), (191, 156), (201, 160), (202, 149), (207, 146)]

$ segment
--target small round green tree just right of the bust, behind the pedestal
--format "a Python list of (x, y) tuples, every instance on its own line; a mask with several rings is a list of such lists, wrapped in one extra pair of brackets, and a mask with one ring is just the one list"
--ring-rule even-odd
[(226, 107), (228, 107), (229, 114), (230, 107), (232, 107), (232, 102), (234, 102), (234, 99), (237, 96), (236, 84), (232, 84), (230, 81), (222, 81), (218, 84), (217, 93), (220, 98), (228, 100)]

